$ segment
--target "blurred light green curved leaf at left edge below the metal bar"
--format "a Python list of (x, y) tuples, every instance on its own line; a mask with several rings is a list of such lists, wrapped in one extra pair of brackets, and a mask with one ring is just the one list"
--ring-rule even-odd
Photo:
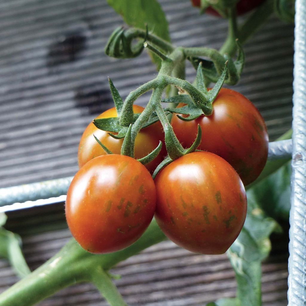
[(31, 271), (21, 251), (21, 238), (4, 228), (0, 228), (0, 256), (9, 260), (15, 273), (23, 278)]

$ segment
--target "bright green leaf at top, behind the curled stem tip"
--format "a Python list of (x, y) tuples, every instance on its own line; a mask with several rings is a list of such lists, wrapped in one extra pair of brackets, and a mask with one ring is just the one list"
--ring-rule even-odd
[[(170, 42), (168, 21), (156, 0), (107, 0), (107, 3), (123, 17), (129, 26), (146, 29), (147, 25), (150, 32)], [(160, 58), (157, 56), (153, 58), (159, 65)]]

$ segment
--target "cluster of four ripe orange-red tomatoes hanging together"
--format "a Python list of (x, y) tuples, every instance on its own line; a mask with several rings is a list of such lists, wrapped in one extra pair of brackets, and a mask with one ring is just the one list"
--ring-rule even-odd
[[(192, 121), (172, 116), (174, 132), (184, 147), (192, 144), (201, 126), (202, 151), (174, 160), (154, 181), (149, 171), (165, 152), (146, 168), (118, 154), (122, 140), (88, 125), (79, 146), (80, 170), (69, 187), (65, 208), (69, 228), (83, 248), (93, 253), (125, 248), (142, 235), (155, 214), (166, 236), (185, 249), (226, 252), (243, 226), (244, 185), (263, 169), (268, 136), (259, 111), (240, 93), (223, 88), (213, 106), (211, 116)], [(134, 106), (134, 112), (142, 110)], [(116, 115), (113, 108), (98, 118)], [(106, 155), (92, 134), (115, 154)], [(160, 122), (141, 130), (136, 158), (152, 151), (161, 135)]]

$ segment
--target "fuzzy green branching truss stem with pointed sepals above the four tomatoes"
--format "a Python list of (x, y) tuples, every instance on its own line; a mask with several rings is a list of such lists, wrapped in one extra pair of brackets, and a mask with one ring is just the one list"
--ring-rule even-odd
[[(224, 3), (223, 3), (224, 2)], [(228, 8), (230, 0), (223, 1), (222, 5)], [(226, 3), (226, 4), (225, 4)], [(139, 42), (132, 46), (132, 41), (139, 39)], [(244, 53), (240, 43), (236, 40), (237, 57), (233, 60), (228, 54), (221, 54), (211, 48), (174, 48), (169, 43), (141, 29), (118, 28), (114, 31), (106, 47), (106, 53), (119, 58), (129, 58), (140, 54), (143, 48), (158, 56), (161, 66), (158, 76), (139, 88), (131, 91), (123, 102), (118, 90), (109, 79), (110, 90), (114, 99), (118, 117), (95, 119), (94, 124), (99, 129), (108, 131), (111, 137), (116, 139), (124, 138), (121, 148), (122, 155), (134, 157), (134, 145), (137, 133), (157, 122), (161, 121), (164, 133), (168, 157), (162, 162), (163, 165), (197, 149), (201, 140), (201, 129), (195, 142), (188, 149), (182, 147), (177, 140), (172, 126), (167, 118), (168, 114), (177, 113), (181, 120), (194, 120), (201, 115), (210, 116), (213, 113), (213, 102), (222, 88), (223, 83), (236, 84), (240, 78), (244, 65)], [(208, 58), (208, 59), (202, 59)], [(185, 60), (192, 62), (197, 70), (194, 84), (181, 78), (181, 67), (185, 67)], [(208, 90), (207, 85), (213, 81), (215, 86)], [(175, 88), (179, 95), (162, 99), (165, 88)], [(147, 107), (140, 114), (134, 114), (133, 104), (141, 95), (152, 90), (152, 95)], [(175, 92), (175, 91), (172, 91)], [(163, 108), (161, 102), (172, 104), (185, 103), (181, 108)], [(109, 150), (100, 144), (110, 154)], [(140, 159), (140, 162), (151, 162), (160, 152), (161, 144), (148, 156)], [(156, 172), (157, 173), (157, 172)], [(156, 175), (155, 173), (155, 175)]]

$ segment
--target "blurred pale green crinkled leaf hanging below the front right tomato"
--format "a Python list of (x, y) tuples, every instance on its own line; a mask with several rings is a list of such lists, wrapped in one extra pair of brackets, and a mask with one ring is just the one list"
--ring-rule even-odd
[(281, 232), (281, 227), (265, 214), (255, 196), (248, 197), (244, 226), (227, 251), (237, 280), (237, 298), (218, 300), (207, 306), (261, 306), (261, 262), (271, 251), (269, 236), (274, 231)]

